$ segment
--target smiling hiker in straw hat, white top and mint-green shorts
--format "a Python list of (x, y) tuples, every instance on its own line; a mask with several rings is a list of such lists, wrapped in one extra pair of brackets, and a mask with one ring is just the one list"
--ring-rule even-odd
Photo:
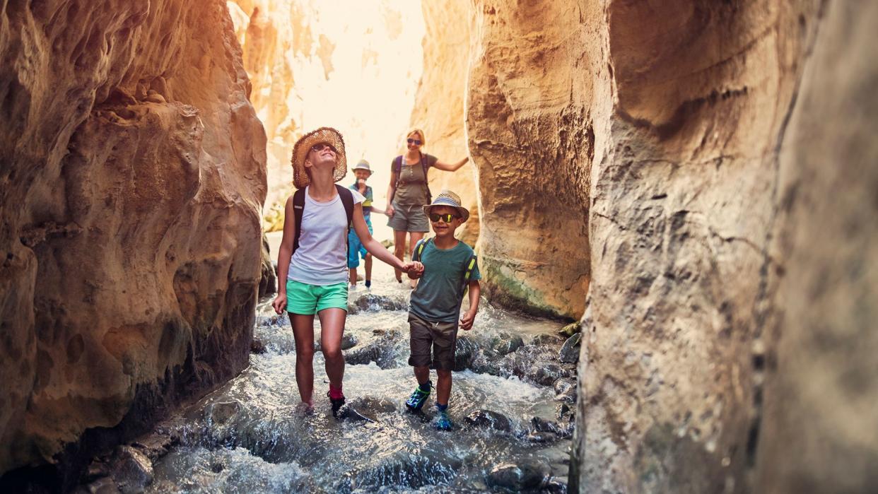
[(308, 132), (292, 148), (296, 193), (286, 201), (284, 238), (277, 258), (280, 314), (289, 313), (296, 340), (296, 383), (299, 397), (313, 407), (314, 314), (320, 318), (320, 347), (329, 378), (327, 396), (334, 416), (344, 405), (342, 334), (348, 314), (348, 230), (372, 255), (409, 276), (421, 276), (420, 262), (403, 263), (372, 238), (363, 219), (363, 200), (356, 190), (336, 182), (346, 173), (342, 134), (330, 127)]

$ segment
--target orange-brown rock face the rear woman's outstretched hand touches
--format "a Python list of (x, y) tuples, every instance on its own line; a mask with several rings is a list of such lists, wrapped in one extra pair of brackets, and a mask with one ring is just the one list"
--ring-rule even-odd
[(466, 132), (479, 176), (483, 286), (507, 306), (578, 319), (595, 146), (589, 67), (599, 53), (587, 51), (578, 3), (474, 9)]

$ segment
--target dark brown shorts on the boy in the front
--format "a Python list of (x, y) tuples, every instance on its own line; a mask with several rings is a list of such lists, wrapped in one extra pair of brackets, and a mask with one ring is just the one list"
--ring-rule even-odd
[[(408, 326), (411, 330), (412, 355), (408, 365), (434, 369), (454, 369), (454, 349), (457, 345), (457, 321), (451, 323), (433, 322), (408, 313)], [(430, 358), (433, 347), (433, 358)]]

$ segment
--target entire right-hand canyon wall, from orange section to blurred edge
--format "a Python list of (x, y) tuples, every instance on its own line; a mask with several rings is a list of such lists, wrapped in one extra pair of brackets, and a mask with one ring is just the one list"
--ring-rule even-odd
[(586, 333), (572, 490), (874, 485), (875, 9), (473, 5), (487, 292)]

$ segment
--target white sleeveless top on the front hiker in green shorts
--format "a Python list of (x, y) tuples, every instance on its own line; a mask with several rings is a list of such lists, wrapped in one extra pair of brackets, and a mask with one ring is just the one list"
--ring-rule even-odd
[[(318, 203), (305, 188), (305, 210), (299, 248), (292, 253), (287, 278), (313, 285), (348, 282), (348, 215), (342, 197), (335, 195), (327, 203)], [(364, 200), (363, 194), (350, 190), (354, 204)]]

